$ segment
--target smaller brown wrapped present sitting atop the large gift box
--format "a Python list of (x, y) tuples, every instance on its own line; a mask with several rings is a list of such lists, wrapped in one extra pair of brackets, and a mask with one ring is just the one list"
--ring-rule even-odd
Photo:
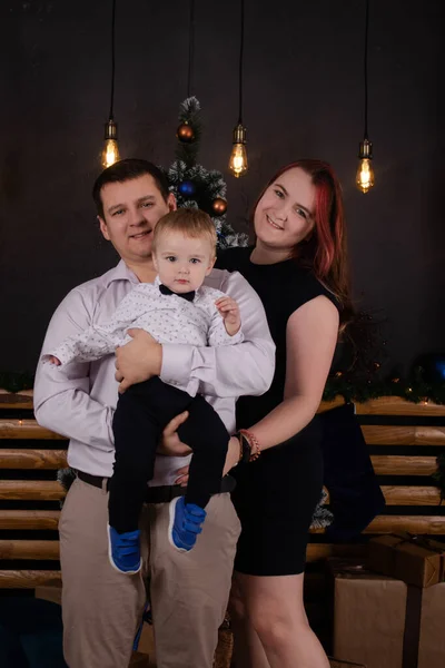
[(405, 532), (380, 536), (369, 541), (368, 566), (407, 584), (432, 587), (445, 580), (445, 543)]

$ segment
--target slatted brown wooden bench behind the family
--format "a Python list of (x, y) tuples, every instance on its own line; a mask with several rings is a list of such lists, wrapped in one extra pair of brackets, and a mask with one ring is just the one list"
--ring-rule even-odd
[[(323, 403), (319, 410), (342, 403)], [(431, 478), (445, 449), (445, 406), (383, 397), (356, 407), (387, 508), (354, 544), (330, 544), (324, 529), (313, 529), (309, 564), (363, 556), (369, 536), (407, 530), (445, 537), (445, 512)], [(65, 439), (33, 419), (31, 391), (0, 390), (0, 589), (60, 578), (57, 527), (65, 490), (57, 470), (67, 465), (66, 449)]]

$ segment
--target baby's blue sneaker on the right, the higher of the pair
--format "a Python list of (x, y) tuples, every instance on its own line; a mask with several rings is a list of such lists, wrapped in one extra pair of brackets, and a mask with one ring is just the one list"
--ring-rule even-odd
[(207, 512), (195, 503), (185, 503), (184, 497), (177, 497), (170, 502), (170, 522), (168, 540), (179, 552), (188, 552), (196, 543), (202, 531), (202, 522)]

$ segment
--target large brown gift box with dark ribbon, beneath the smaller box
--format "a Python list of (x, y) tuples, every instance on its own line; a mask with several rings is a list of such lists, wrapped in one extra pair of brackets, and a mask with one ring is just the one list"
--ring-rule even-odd
[(445, 582), (422, 589), (335, 563), (334, 655), (367, 668), (444, 668)]

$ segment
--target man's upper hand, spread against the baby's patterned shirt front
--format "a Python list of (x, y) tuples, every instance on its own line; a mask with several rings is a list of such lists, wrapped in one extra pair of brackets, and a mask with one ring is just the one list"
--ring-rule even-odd
[(116, 348), (116, 380), (122, 393), (135, 383), (160, 375), (162, 346), (144, 330), (128, 330), (132, 341)]

